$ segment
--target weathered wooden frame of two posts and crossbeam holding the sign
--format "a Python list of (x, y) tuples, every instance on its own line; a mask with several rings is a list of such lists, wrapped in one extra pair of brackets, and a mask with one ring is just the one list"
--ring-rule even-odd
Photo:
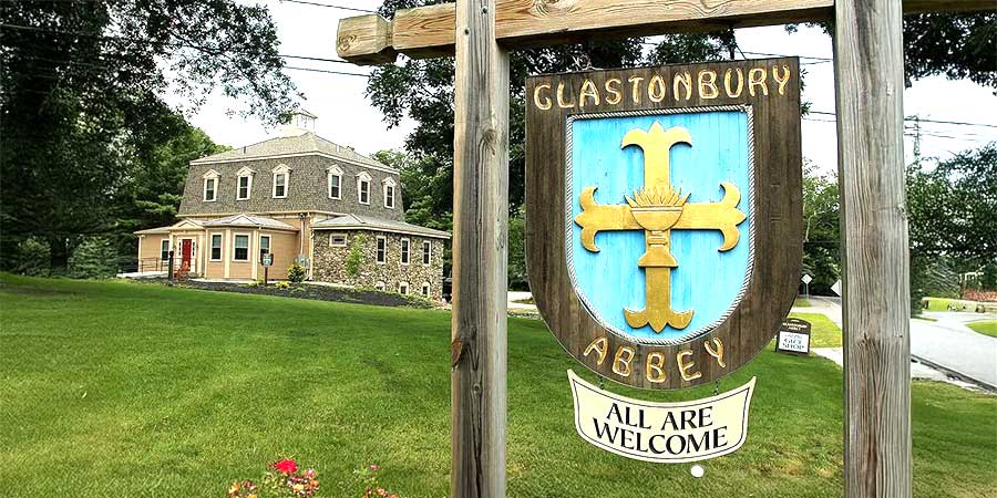
[(505, 496), (506, 50), (833, 20), (845, 496), (909, 497), (902, 14), (988, 9), (993, 0), (462, 0), (340, 21), (337, 51), (359, 64), (456, 55), (451, 495)]

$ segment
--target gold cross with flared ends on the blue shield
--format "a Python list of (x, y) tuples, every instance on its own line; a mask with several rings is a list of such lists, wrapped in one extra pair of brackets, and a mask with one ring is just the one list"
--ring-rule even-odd
[(645, 252), (637, 260), (644, 268), (647, 303), (644, 310), (625, 309), (627, 323), (639, 329), (650, 324), (660, 333), (665, 325), (685, 329), (692, 320), (693, 310), (671, 309), (671, 269), (678, 261), (671, 255), (671, 230), (720, 230), (723, 243), (718, 250), (728, 251), (738, 245), (738, 225), (746, 215), (738, 209), (741, 191), (729, 181), (723, 187), (719, 203), (686, 203), (689, 194), (676, 190), (669, 179), (669, 153), (675, 144), (692, 145), (689, 132), (680, 126), (665, 131), (658, 122), (650, 129), (630, 129), (624, 135), (620, 148), (636, 145), (644, 149), (644, 187), (625, 196), (627, 204), (600, 205), (593, 194), (597, 186), (585, 187), (578, 196), (582, 214), (575, 222), (582, 227), (582, 246), (598, 252), (595, 236), (600, 230), (644, 230)]

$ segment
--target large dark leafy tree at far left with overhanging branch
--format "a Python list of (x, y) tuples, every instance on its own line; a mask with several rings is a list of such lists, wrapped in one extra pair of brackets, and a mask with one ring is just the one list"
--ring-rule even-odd
[(175, 120), (158, 97), (167, 87), (187, 110), (214, 90), (241, 97), (240, 111), (265, 122), (291, 107), (265, 8), (6, 2), (0, 21), (0, 251), (40, 237), (62, 271), (83, 237), (121, 231), (117, 215), (137, 174), (129, 154)]

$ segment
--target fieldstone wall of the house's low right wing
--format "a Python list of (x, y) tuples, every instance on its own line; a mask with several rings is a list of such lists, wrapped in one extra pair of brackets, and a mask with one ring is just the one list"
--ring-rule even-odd
[[(358, 242), (358, 236), (362, 240)], [(378, 238), (383, 238), (384, 262), (377, 262)], [(343, 240), (345, 239), (345, 240)], [(402, 240), (409, 241), (409, 263), (402, 263)], [(342, 241), (342, 243), (340, 243)], [(429, 242), (430, 262), (423, 261), (423, 245)], [(381, 288), (391, 292), (402, 292), (408, 284), (409, 294), (422, 295), (424, 284), (429, 284), (429, 299), (440, 301), (443, 297), (443, 240), (417, 235), (372, 230), (321, 230), (314, 239), (315, 271), (312, 279), (320, 282), (346, 286)], [(347, 261), (351, 248), (360, 243), (359, 271), (356, 276), (347, 272)]]

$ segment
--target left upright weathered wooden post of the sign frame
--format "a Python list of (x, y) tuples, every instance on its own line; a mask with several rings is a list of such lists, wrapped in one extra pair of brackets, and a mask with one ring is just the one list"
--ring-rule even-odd
[[(458, 2), (451, 496), (505, 496), (508, 54), (495, 0)], [(456, 344), (456, 342), (454, 342)]]

